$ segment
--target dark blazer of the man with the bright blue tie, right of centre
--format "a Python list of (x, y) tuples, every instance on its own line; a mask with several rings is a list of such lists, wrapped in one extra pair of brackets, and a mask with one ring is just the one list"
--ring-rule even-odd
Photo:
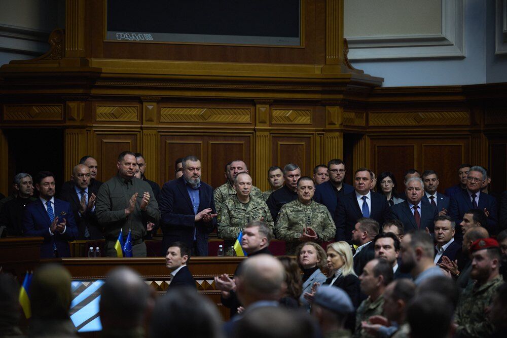
[[(352, 230), (357, 223), (357, 219), (363, 217), (363, 211), (357, 203), (355, 190), (343, 196), (338, 201), (335, 213), (336, 235), (335, 241), (347, 241), (350, 243), (352, 240)], [(386, 219), (392, 218), (391, 208), (384, 195), (371, 192), (371, 211), (370, 218), (379, 222), (380, 226)]]

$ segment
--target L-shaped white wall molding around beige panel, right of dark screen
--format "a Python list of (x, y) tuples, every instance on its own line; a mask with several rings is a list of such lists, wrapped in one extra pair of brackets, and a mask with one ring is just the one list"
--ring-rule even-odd
[(463, 0), (442, 0), (440, 34), (346, 36), (346, 39), (349, 60), (464, 58)]

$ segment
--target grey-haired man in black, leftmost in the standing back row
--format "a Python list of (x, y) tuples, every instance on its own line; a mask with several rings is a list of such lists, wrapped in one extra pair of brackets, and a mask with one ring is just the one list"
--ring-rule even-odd
[(0, 212), (0, 226), (6, 227), (7, 236), (21, 236), (23, 213), (28, 204), (37, 201), (33, 195), (32, 177), (24, 172), (14, 176), (16, 197), (6, 202)]

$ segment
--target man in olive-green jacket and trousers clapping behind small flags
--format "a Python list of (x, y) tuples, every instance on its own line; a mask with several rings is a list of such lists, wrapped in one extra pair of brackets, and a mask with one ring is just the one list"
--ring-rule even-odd
[(120, 231), (125, 237), (131, 232), (132, 255), (146, 257), (146, 222), (156, 223), (160, 218), (157, 200), (147, 182), (134, 177), (137, 162), (132, 152), (118, 156), (118, 173), (104, 182), (98, 191), (95, 214), (104, 228), (104, 251), (116, 257), (116, 241)]

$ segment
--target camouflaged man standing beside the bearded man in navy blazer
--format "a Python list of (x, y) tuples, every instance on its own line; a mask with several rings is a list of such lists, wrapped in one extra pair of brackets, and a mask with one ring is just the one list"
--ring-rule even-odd
[(225, 200), (218, 215), (218, 234), (226, 246), (236, 241), (240, 230), (253, 220), (261, 220), (273, 231), (273, 219), (264, 200), (251, 195), (252, 178), (247, 172), (236, 175), (233, 185), (236, 195)]

